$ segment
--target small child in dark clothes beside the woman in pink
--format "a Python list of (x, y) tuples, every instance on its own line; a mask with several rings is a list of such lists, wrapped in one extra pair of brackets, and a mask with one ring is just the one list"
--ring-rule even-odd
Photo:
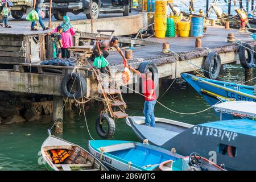
[(57, 27), (57, 32), (51, 33), (48, 32), (48, 35), (51, 35), (52, 43), (56, 49), (56, 57), (61, 59), (61, 47), (63, 47), (61, 40), (61, 33), (63, 32), (63, 28), (61, 26)]

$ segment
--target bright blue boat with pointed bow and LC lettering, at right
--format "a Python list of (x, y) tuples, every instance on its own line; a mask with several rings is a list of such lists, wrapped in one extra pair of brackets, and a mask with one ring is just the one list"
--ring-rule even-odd
[[(256, 93), (254, 86), (246, 86), (233, 84), (230, 82), (210, 80), (190, 75), (188, 73), (181, 73), (181, 76), (204, 97), (205, 101), (210, 106), (217, 104), (221, 100), (236, 100), (236, 101), (253, 101), (256, 102)], [(230, 114), (222, 114), (223, 120), (237, 119)]]

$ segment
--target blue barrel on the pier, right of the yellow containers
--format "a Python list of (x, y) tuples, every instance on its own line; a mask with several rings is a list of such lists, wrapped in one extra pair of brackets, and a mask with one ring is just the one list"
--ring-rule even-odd
[(191, 17), (191, 36), (204, 36), (204, 17)]

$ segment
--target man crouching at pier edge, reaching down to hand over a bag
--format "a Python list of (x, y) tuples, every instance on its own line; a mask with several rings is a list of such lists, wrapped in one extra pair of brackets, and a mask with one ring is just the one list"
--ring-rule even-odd
[[(117, 49), (119, 54), (122, 56), (123, 61), (127, 63), (125, 55), (123, 55), (123, 52), (118, 47), (118, 38), (112, 38), (111, 40), (101, 40), (100, 42), (96, 42), (93, 46), (93, 60), (95, 57), (98, 57), (100, 55), (103, 55), (103, 57), (106, 59), (106, 57), (109, 56), (110, 47), (114, 47), (115, 49)], [(101, 68), (101, 73), (106, 73), (105, 67)]]

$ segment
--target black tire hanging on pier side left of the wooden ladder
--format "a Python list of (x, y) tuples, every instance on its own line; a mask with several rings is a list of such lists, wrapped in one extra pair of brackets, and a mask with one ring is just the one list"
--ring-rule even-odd
[[(76, 82), (76, 91), (74, 93), (71, 93), (71, 90), (69, 90), (69, 81), (74, 80)], [(72, 82), (73, 85), (73, 82)], [(82, 96), (85, 95), (87, 89), (87, 82), (83, 76), (81, 76), (79, 73), (68, 73), (63, 77), (63, 80), (61, 81), (61, 92), (65, 97), (68, 97), (70, 99), (76, 99), (79, 100), (82, 98)]]

